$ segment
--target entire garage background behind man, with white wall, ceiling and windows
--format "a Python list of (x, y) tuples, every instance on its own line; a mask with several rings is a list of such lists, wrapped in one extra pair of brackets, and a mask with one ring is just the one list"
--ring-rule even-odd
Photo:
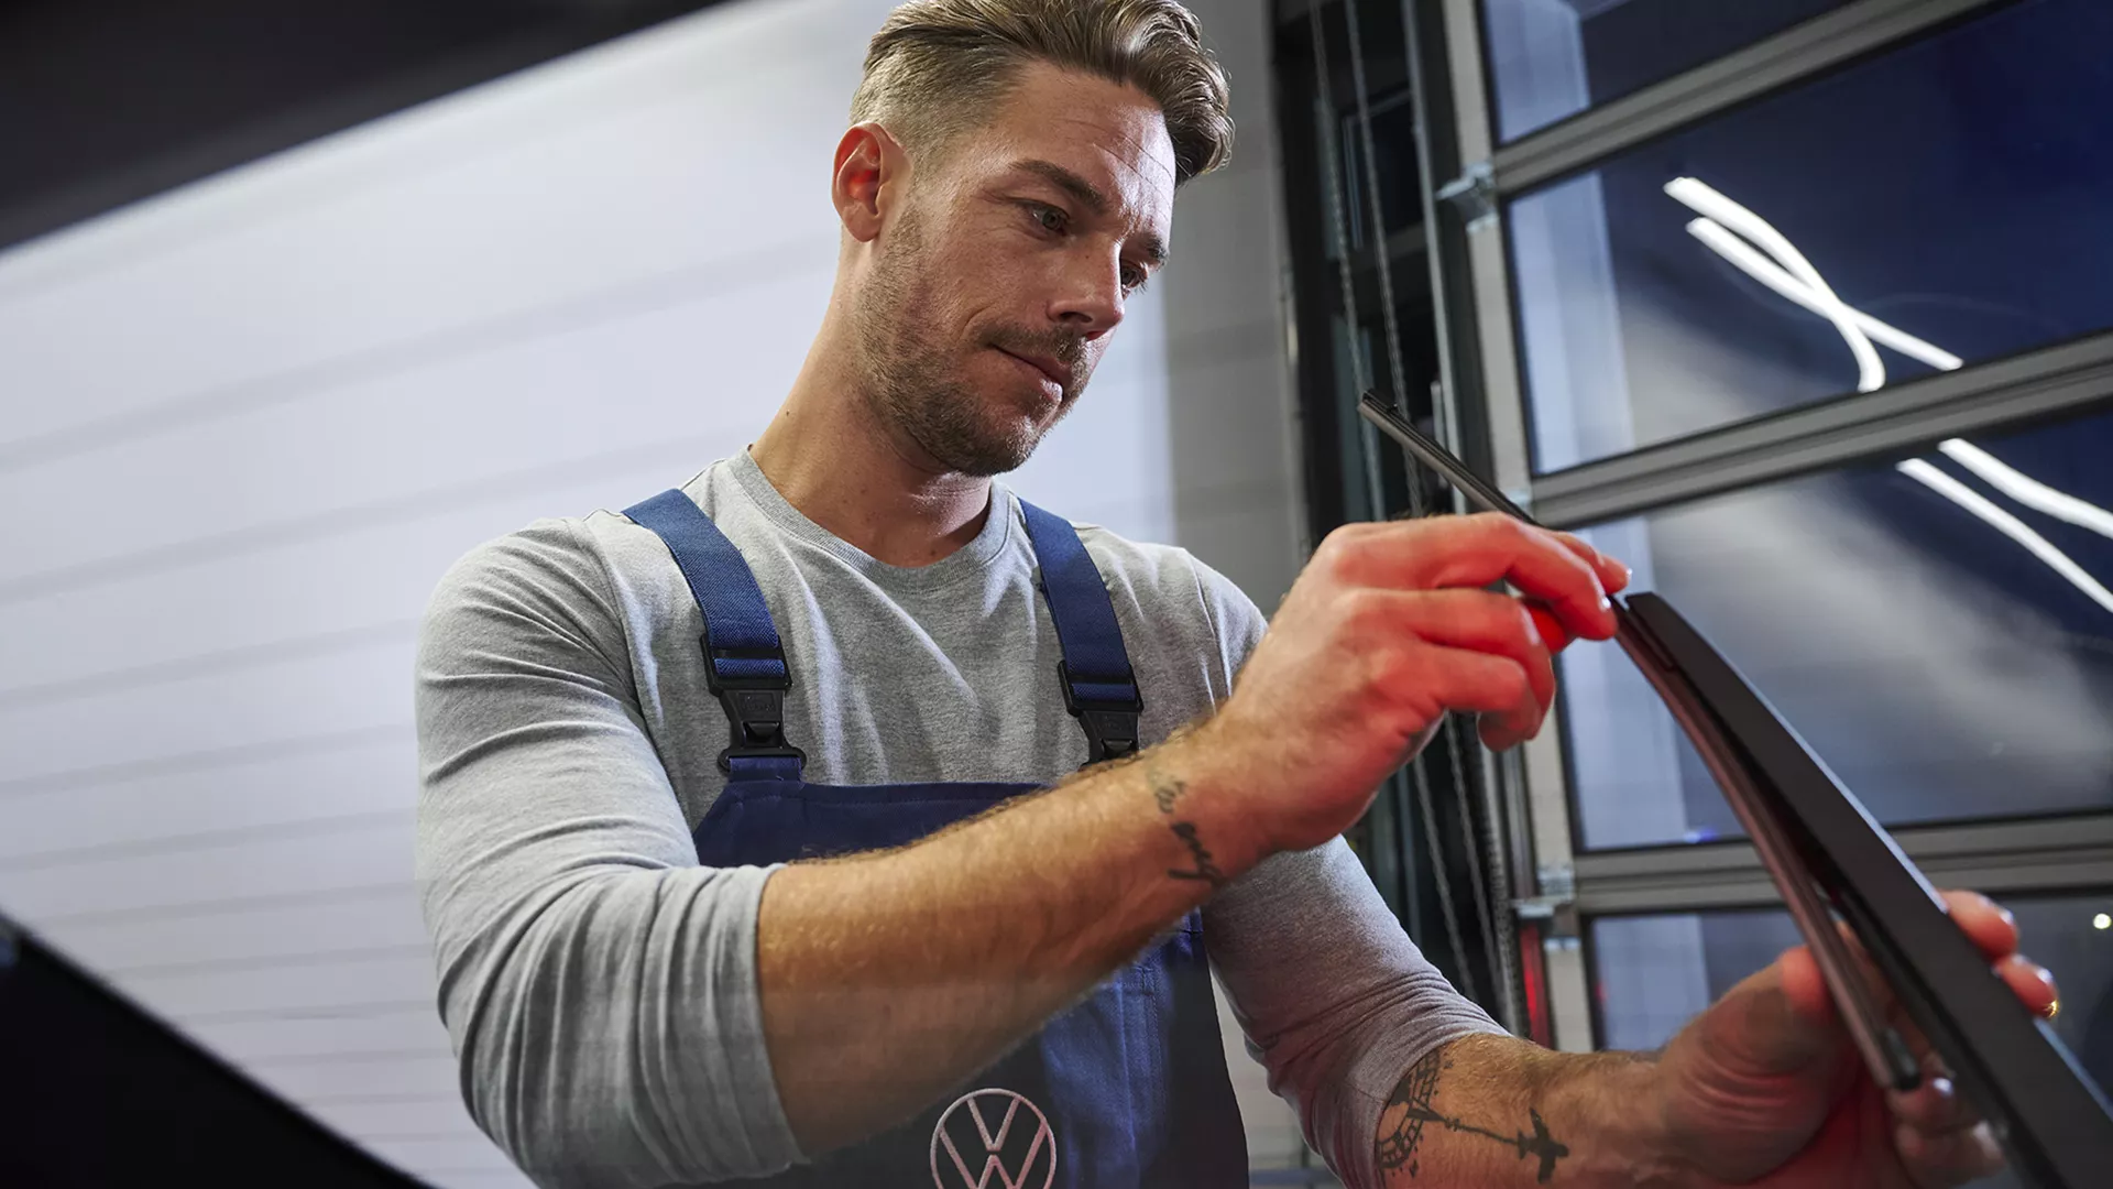
[[(1392, 391), (1640, 563), (1933, 876), (2012, 899), (2113, 1079), (2113, 535), (2077, 508), (2113, 506), (2113, 13), (1192, 6), (1234, 163), (1014, 482), (1272, 607), (1329, 527), (1447, 506), (1348, 417)], [(885, 8), (0, 11), (0, 910), (406, 1172), (524, 1183), (433, 1016), (416, 616), (471, 544), (769, 415)], [(1876, 374), (1690, 228), (1737, 228), (1718, 199), (1895, 330)], [(1536, 745), (1433, 749), (1352, 842), (1515, 1030), (1650, 1047), (1790, 933), (1642, 683), (1564, 679)], [(1232, 1068), (1255, 1183), (1323, 1181)]]

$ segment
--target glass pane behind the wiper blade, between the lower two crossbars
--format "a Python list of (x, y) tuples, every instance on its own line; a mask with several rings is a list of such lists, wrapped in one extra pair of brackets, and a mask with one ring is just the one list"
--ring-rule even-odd
[[(1887, 825), (2113, 808), (2113, 413), (1585, 529)], [(1562, 658), (1583, 846), (1737, 823), (1614, 645)]]

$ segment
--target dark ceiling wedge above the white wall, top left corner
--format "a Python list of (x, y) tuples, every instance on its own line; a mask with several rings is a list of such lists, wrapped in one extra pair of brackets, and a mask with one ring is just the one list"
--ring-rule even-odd
[(0, 0), (0, 248), (712, 0)]

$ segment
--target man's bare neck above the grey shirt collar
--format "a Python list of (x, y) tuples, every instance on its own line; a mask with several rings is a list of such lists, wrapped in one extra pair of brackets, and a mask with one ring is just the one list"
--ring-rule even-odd
[(887, 565), (932, 565), (983, 531), (991, 480), (949, 470), (877, 415), (843, 330), (826, 319), (748, 453), (816, 525)]

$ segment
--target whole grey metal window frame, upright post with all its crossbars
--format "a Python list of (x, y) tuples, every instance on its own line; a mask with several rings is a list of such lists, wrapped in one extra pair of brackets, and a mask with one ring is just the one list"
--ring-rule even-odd
[[(1424, 226), (1439, 410), (1454, 451), (1545, 523), (1578, 527), (2113, 402), (2113, 332), (2105, 332), (1532, 476), (1507, 197), (2009, 2), (1855, 0), (1498, 146), (1481, 2), (1403, 0), (1424, 178), (1435, 188)], [(1441, 186), (1445, 178), (1456, 180)], [(1559, 1049), (1597, 1045), (1589, 918), (1779, 903), (1743, 842), (1581, 850), (1555, 715), (1515, 762), (1492, 768), (1504, 774), (1509, 821), (1530, 840), (1532, 865), (1521, 872), (1534, 878), (1521, 878), (1513, 910), (1542, 922)], [(1997, 895), (2113, 886), (2113, 812), (1902, 827), (1895, 838), (1944, 884)]]

